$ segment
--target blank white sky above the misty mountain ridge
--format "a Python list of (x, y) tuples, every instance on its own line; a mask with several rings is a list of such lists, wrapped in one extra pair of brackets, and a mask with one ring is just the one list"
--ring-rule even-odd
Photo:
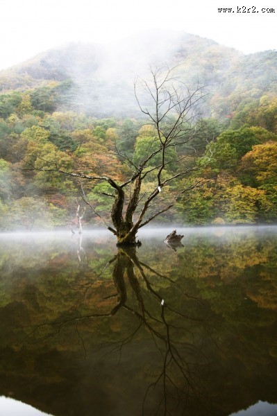
[(272, 0), (1, 0), (0, 69), (67, 42), (109, 43), (156, 28), (243, 53), (277, 49), (277, 6)]

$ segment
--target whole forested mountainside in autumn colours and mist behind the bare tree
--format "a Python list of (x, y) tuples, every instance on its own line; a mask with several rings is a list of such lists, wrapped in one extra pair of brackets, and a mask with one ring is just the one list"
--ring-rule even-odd
[[(162, 50), (152, 42), (147, 53), (146, 44), (137, 40), (137, 60), (128, 44), (118, 54), (69, 44), (1, 71), (1, 230), (72, 227), (78, 206), (87, 226), (108, 221), (112, 188), (107, 182), (83, 183), (40, 169), (55, 164), (121, 181), (129, 175), (128, 161), (139, 161), (157, 139), (133, 94), (134, 73), (146, 76), (145, 60), (176, 66), (185, 85), (206, 92), (195, 134), (190, 143), (171, 148), (176, 163), (165, 171), (189, 172), (167, 194), (199, 185), (159, 220), (180, 225), (276, 221), (277, 52), (242, 55), (194, 35), (167, 37)], [(153, 180), (148, 175), (144, 193)]]

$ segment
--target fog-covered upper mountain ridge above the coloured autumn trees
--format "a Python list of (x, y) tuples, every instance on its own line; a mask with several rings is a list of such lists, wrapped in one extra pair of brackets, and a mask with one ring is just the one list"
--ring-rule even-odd
[[(277, 51), (244, 55), (187, 33), (149, 31), (108, 45), (65, 44), (0, 72), (1, 94), (60, 86), (58, 110), (137, 116), (133, 83), (149, 66), (176, 66), (189, 87), (205, 86), (206, 116), (228, 117), (242, 102), (277, 93)], [(66, 96), (66, 99), (63, 99)]]

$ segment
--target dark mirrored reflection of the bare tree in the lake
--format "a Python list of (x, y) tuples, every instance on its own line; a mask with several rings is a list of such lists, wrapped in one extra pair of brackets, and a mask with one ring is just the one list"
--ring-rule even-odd
[[(119, 248), (115, 257), (108, 261), (104, 269), (111, 264), (112, 279), (117, 291), (116, 295), (108, 296), (117, 297), (117, 303), (112, 309), (58, 322), (44, 322), (37, 325), (28, 334), (28, 338), (35, 336), (35, 333), (37, 335), (37, 331), (41, 331), (43, 327), (48, 327), (48, 330), (42, 338), (49, 338), (59, 333), (65, 324), (75, 322), (78, 338), (81, 339), (86, 356), (85, 340), (79, 323), (82, 324), (89, 319), (112, 317), (121, 310), (127, 311), (135, 317), (135, 326), (127, 335), (124, 331), (124, 338), (113, 343), (108, 354), (118, 352), (121, 356), (124, 346), (131, 342), (135, 343), (135, 337), (140, 331), (146, 331), (149, 334), (147, 338), (150, 337), (156, 347), (156, 357), (151, 363), (155, 367), (154, 374), (149, 377), (146, 372), (146, 378), (149, 378), (150, 382), (142, 399), (142, 414), (149, 415), (153, 412), (159, 415), (181, 415), (190, 399), (197, 398), (201, 404), (203, 383), (198, 369), (203, 363), (207, 364), (207, 360), (201, 349), (196, 346), (194, 333), (185, 327), (187, 320), (199, 322), (201, 320), (185, 315), (178, 307), (174, 307), (162, 297), (147, 274), (156, 275), (159, 279), (169, 281), (170, 284), (174, 284), (174, 280), (140, 262), (135, 248)], [(196, 298), (194, 300), (201, 302)], [(43, 331), (40, 332), (40, 336), (42, 333)]]

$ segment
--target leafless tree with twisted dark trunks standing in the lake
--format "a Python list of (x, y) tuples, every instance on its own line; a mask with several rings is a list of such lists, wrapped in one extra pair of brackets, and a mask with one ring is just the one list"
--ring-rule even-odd
[[(153, 146), (149, 146), (146, 154), (136, 163), (115, 146), (115, 154), (124, 159), (131, 170), (130, 177), (125, 182), (118, 183), (112, 177), (62, 171), (57, 165), (42, 168), (44, 171), (59, 171), (73, 177), (107, 181), (110, 184), (114, 190), (113, 195), (107, 194), (114, 198), (110, 212), (112, 226), (106, 226), (117, 236), (117, 245), (140, 244), (136, 241), (136, 236), (141, 227), (173, 207), (183, 193), (199, 186), (199, 182), (195, 182), (174, 193), (162, 193), (163, 188), (176, 184), (185, 175), (199, 169), (199, 166), (182, 168), (182, 160), (187, 154), (176, 153), (176, 157), (172, 159), (170, 151), (178, 150), (181, 146), (187, 148), (194, 137), (196, 121), (200, 117), (199, 105), (203, 102), (203, 88), (196, 87), (191, 92), (181, 80), (174, 77), (174, 69), (168, 68), (152, 69), (151, 78), (137, 78), (134, 87), (137, 104), (146, 117), (146, 123), (155, 131), (156, 139)], [(171, 175), (165, 175), (167, 168), (174, 163), (181, 167)], [(149, 176), (154, 176), (155, 180), (151, 180), (154, 185), (150, 191), (142, 194), (142, 183)], [(86, 198), (84, 200), (90, 205)], [(153, 207), (158, 208), (153, 210)], [(151, 214), (146, 216), (150, 211)]]

